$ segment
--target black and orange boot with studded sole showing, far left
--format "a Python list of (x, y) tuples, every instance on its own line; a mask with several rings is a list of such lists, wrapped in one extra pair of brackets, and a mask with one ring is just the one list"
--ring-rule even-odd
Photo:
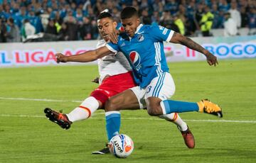
[(68, 120), (68, 116), (63, 113), (58, 113), (57, 111), (53, 111), (50, 108), (45, 108), (44, 113), (46, 113), (46, 117), (48, 120), (57, 123), (61, 128), (68, 130), (72, 122)]

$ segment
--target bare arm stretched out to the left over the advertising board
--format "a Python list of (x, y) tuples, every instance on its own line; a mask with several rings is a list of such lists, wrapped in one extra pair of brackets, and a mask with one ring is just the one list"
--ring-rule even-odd
[(89, 50), (87, 52), (83, 52), (80, 55), (65, 56), (61, 53), (57, 53), (55, 54), (55, 57), (56, 57), (57, 63), (59, 62), (92, 62), (101, 57), (109, 55), (110, 52), (111, 51), (106, 46), (104, 46), (96, 50)]

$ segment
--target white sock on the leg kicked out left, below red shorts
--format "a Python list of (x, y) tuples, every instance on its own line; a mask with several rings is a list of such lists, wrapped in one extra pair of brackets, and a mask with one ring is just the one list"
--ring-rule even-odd
[(89, 118), (92, 113), (94, 113), (97, 108), (99, 108), (99, 103), (97, 99), (90, 96), (85, 101), (82, 101), (79, 107), (75, 108), (73, 111), (67, 114), (68, 119), (71, 122), (78, 120), (85, 120)]

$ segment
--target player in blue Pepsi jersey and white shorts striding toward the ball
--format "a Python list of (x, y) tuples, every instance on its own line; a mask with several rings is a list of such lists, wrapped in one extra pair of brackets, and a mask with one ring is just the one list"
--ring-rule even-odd
[[(164, 55), (163, 42), (179, 43), (203, 53), (210, 65), (218, 64), (217, 58), (208, 50), (173, 30), (161, 26), (146, 26), (139, 21), (137, 10), (126, 7), (121, 13), (125, 32), (113, 43), (108, 43), (97, 50), (87, 51), (80, 55), (64, 56), (56, 54), (57, 62), (91, 62), (104, 57), (110, 52), (121, 51), (132, 66), (134, 80), (139, 86), (112, 96), (105, 104), (107, 124), (119, 125), (119, 113), (125, 109), (146, 108), (150, 116), (166, 116), (169, 113), (198, 111), (222, 117), (221, 108), (208, 100), (198, 103), (169, 100), (174, 95), (174, 80), (169, 73)], [(107, 130), (117, 133), (114, 125), (107, 125)]]

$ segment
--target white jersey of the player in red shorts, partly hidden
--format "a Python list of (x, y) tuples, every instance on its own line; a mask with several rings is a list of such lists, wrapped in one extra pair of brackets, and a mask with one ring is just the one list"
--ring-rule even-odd
[[(105, 40), (100, 40), (97, 43), (97, 48), (105, 46), (107, 43)], [(98, 59), (99, 74), (100, 74), (100, 84), (102, 79), (106, 75), (117, 75), (124, 74), (126, 72), (132, 71), (132, 68), (122, 52), (110, 53), (105, 57)]]

